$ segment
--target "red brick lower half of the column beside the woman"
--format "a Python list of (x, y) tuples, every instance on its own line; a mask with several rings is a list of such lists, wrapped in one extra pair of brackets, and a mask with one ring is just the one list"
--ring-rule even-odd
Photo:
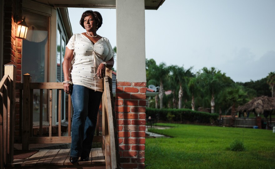
[(146, 82), (118, 82), (116, 118), (122, 168), (144, 168)]

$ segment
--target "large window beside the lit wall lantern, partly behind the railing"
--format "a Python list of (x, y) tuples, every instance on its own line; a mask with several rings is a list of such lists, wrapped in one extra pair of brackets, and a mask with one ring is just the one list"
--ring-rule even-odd
[[(22, 16), (29, 26), (22, 41), (22, 74), (30, 74), (32, 82), (48, 82), (49, 17), (27, 10)], [(48, 120), (47, 96), (47, 90), (43, 90), (43, 121)], [(39, 103), (40, 90), (33, 90), (33, 122), (39, 122)]]

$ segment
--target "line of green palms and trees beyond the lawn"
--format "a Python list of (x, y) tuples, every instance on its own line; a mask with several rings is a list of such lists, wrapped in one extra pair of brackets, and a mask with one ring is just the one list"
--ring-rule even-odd
[[(155, 60), (146, 59), (146, 79), (147, 86), (159, 86), (158, 95), (149, 105), (160, 109), (201, 108), (211, 109), (211, 113), (227, 113), (254, 97), (275, 97), (275, 72), (261, 80), (236, 83), (214, 67), (193, 73), (192, 67), (157, 65)], [(171, 90), (171, 94), (166, 95), (167, 90)]]

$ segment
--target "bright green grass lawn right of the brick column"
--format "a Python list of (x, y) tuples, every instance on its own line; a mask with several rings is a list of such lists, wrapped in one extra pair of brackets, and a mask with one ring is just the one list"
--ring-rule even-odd
[[(166, 124), (170, 129), (149, 129), (173, 138), (146, 138), (146, 169), (176, 168), (273, 168), (275, 133), (272, 130)], [(243, 140), (245, 151), (229, 150), (234, 139)]]

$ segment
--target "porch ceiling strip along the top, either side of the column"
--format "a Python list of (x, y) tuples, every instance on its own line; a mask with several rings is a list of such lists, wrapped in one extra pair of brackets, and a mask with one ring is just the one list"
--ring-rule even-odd
[[(116, 0), (32, 0), (52, 7), (116, 8)], [(145, 9), (157, 10), (165, 0), (144, 0)]]

